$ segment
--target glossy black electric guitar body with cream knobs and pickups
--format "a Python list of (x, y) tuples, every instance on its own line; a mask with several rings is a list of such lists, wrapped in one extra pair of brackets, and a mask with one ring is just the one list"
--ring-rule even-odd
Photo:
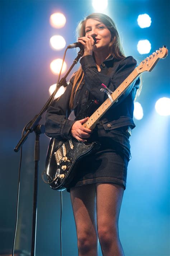
[[(94, 100), (88, 102), (87, 107), (77, 115), (75, 120), (80, 120), (90, 115), (91, 111), (96, 109)], [(71, 140), (57, 140), (51, 138), (46, 158), (46, 176), (52, 189), (64, 190), (74, 176), (76, 175), (76, 165), (78, 161), (99, 149), (98, 142), (84, 143), (79, 142), (75, 138)]]

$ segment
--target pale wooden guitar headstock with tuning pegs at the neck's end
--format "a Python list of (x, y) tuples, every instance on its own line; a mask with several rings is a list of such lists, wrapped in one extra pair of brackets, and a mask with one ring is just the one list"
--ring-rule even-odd
[(140, 74), (144, 71), (151, 72), (151, 70), (155, 67), (156, 63), (160, 59), (165, 59), (167, 54), (168, 54), (168, 50), (166, 46), (159, 48), (159, 50), (156, 50), (149, 57), (141, 61), (140, 65), (137, 67), (138, 73)]

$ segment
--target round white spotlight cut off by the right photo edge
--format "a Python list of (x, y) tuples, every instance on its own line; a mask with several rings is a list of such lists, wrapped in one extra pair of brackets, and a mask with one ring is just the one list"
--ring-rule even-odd
[(170, 115), (170, 98), (160, 98), (155, 104), (156, 112), (159, 115)]

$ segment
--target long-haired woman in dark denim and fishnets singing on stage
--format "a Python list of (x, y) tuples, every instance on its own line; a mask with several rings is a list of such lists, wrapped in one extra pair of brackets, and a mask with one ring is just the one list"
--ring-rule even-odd
[[(134, 98), (140, 80), (134, 81), (118, 102), (101, 117), (93, 132), (69, 120), (85, 109), (89, 100), (98, 107), (107, 99), (102, 83), (112, 92), (136, 68), (132, 57), (125, 57), (117, 28), (105, 14), (93, 13), (79, 24), (79, 42), (84, 47), (79, 70), (72, 76), (65, 93), (54, 100), (46, 114), (46, 135), (98, 141), (98, 151), (85, 156), (76, 167), (70, 192), (77, 231), (79, 255), (97, 256), (98, 241), (103, 255), (124, 255), (119, 240), (118, 219), (130, 157), (129, 135), (133, 122)], [(96, 43), (93, 39), (95, 36)]]

